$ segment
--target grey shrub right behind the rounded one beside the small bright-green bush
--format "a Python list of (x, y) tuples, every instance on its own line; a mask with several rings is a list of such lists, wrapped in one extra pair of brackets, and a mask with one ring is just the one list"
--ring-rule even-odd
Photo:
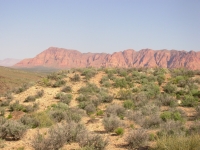
[(110, 104), (106, 108), (106, 114), (109, 115), (116, 115), (119, 117), (124, 117), (125, 115), (125, 108), (119, 104)]

